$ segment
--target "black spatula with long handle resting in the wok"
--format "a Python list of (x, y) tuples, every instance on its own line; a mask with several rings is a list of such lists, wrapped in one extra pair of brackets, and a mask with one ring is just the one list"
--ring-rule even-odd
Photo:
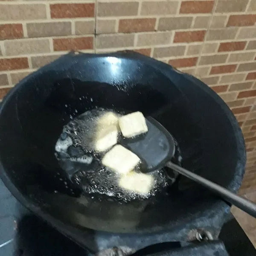
[(145, 170), (144, 172), (153, 172), (164, 166), (169, 167), (212, 190), (212, 192), (220, 195), (221, 198), (230, 204), (235, 205), (256, 218), (256, 204), (252, 201), (236, 195), (224, 187), (172, 163), (171, 160), (175, 154), (175, 143), (172, 135), (152, 117), (147, 117), (146, 123), (148, 126), (148, 132), (146, 134), (140, 135), (135, 139), (124, 139), (121, 142), (126, 148), (140, 157), (146, 167), (145, 169), (143, 168)]

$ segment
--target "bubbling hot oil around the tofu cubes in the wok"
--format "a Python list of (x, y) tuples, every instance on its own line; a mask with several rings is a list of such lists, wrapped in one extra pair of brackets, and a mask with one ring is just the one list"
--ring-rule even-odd
[[(167, 176), (163, 169), (151, 174), (154, 177), (151, 191), (148, 194), (139, 194), (119, 187), (119, 174), (102, 165), (101, 160), (106, 152), (99, 153), (94, 150), (95, 132), (97, 121), (109, 111), (117, 116), (125, 114), (96, 108), (86, 111), (64, 125), (63, 132), (55, 145), (55, 155), (62, 169), (67, 172), (68, 177), (76, 186), (84, 193), (90, 194), (92, 198), (107, 195), (126, 202), (156, 195), (167, 186)], [(139, 164), (134, 171), (140, 172), (140, 168)]]

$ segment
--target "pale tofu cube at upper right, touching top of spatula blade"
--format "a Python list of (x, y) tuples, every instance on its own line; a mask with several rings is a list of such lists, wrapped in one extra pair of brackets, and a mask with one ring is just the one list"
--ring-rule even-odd
[(126, 138), (134, 137), (148, 131), (145, 117), (141, 112), (134, 112), (119, 118), (122, 135)]

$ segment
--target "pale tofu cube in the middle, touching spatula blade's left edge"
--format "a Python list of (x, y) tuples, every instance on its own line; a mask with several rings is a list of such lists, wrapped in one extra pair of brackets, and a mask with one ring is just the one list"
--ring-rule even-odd
[(119, 174), (127, 174), (140, 162), (136, 154), (122, 145), (115, 145), (102, 159), (102, 164)]

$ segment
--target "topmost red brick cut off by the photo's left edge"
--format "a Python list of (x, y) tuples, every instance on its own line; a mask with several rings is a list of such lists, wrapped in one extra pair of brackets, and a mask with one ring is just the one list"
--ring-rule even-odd
[(23, 38), (22, 24), (3, 24), (0, 25), (0, 38)]

